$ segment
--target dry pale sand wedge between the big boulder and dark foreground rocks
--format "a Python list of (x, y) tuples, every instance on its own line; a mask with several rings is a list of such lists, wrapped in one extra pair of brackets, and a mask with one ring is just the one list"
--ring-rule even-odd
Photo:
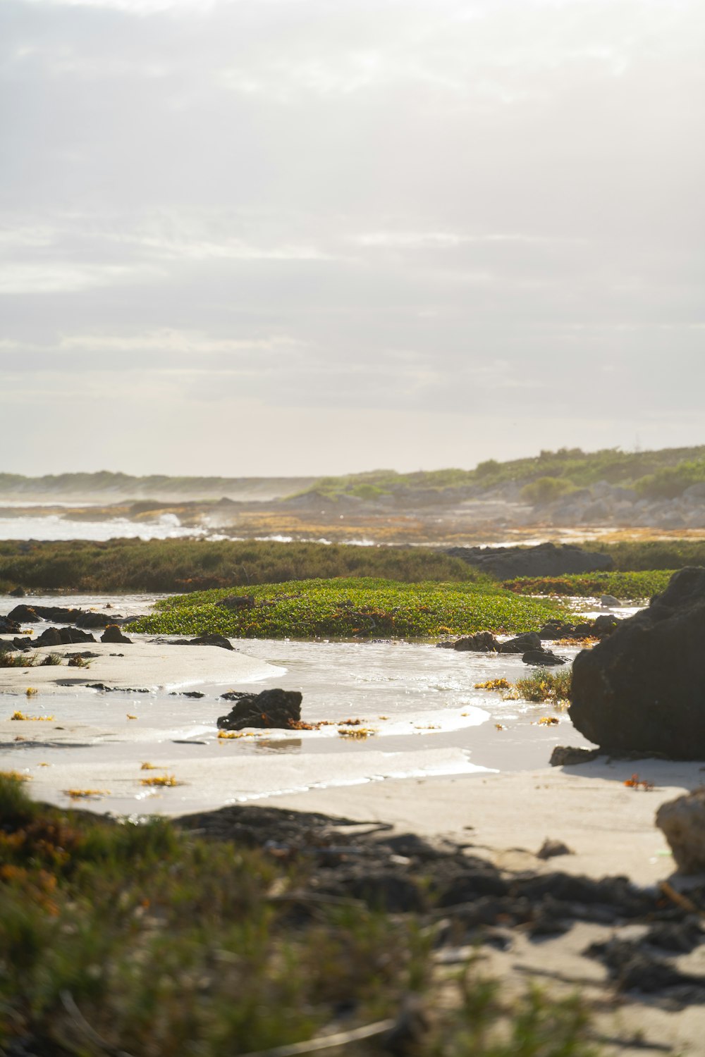
[[(654, 789), (626, 786), (634, 772)], [(400, 831), (472, 845), (475, 853), (508, 870), (625, 874), (647, 886), (673, 871), (654, 826), (656, 809), (704, 778), (700, 763), (595, 760), (568, 768), (327, 789), (261, 802), (393, 822)], [(562, 840), (575, 854), (544, 865), (536, 852), (546, 837)]]

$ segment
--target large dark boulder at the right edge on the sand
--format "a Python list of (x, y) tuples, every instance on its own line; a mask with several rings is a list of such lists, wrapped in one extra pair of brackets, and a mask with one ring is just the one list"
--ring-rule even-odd
[(614, 755), (705, 760), (705, 569), (674, 573), (573, 664), (573, 725)]

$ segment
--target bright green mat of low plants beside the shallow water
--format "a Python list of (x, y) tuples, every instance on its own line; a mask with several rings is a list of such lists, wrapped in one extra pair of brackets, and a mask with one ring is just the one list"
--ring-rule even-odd
[[(131, 625), (156, 634), (230, 638), (433, 638), (475, 631), (536, 631), (558, 610), (497, 587), (382, 579), (302, 580), (252, 588), (252, 605), (230, 608), (231, 591), (167, 598)], [(220, 604), (220, 605), (219, 605)]]

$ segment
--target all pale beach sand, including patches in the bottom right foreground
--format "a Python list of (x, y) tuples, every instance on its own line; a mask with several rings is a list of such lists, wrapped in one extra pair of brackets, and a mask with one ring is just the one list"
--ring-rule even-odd
[[(89, 659), (89, 669), (67, 665), (67, 653), (85, 651), (96, 654)], [(258, 683), (273, 685), (284, 671), (261, 656), (249, 656), (244, 644), (237, 651), (146, 642), (36, 651), (39, 660), (51, 652), (58, 652), (64, 663), (0, 670), (2, 765), (31, 778), (38, 800), (134, 818), (178, 817), (248, 799), (350, 823), (391, 824), (439, 849), (460, 846), (507, 875), (560, 871), (595, 879), (624, 875), (649, 890), (662, 882), (682, 886), (654, 815), (661, 803), (702, 783), (701, 763), (600, 757), (575, 766), (514, 771), (467, 764), (465, 773), (444, 774), (458, 763), (446, 748), (428, 747), (423, 753), (427, 774), (381, 777), (383, 757), (392, 746), (401, 768), (414, 765), (415, 757), (410, 754), (407, 760), (398, 752), (402, 739), (378, 738), (378, 744), (359, 752), (319, 731), (248, 731), (252, 738), (216, 739), (214, 717), (224, 710), (224, 703), (212, 698), (192, 702), (187, 692), (216, 684), (257, 692)], [(111, 690), (96, 690), (91, 684)], [(29, 687), (35, 691), (30, 696)], [(163, 708), (165, 693), (173, 697)], [(13, 711), (35, 718), (12, 720)], [(490, 739), (490, 728), (494, 724), (485, 722), (472, 728), (474, 736)], [(560, 735), (571, 731), (570, 723), (561, 721)], [(310, 748), (317, 739), (315, 752), (301, 756), (307, 736)], [(581, 740), (572, 731), (567, 741)], [(520, 739), (507, 745), (505, 761), (526, 750)], [(515, 766), (520, 763), (514, 761)], [(144, 764), (149, 769), (143, 769)], [(276, 795), (271, 792), (273, 768)], [(433, 774), (434, 768), (439, 773)], [(652, 787), (625, 785), (634, 773)], [(173, 775), (177, 784), (142, 784), (145, 776), (154, 775)], [(72, 799), (69, 790), (92, 795)], [(540, 858), (537, 853), (546, 838), (562, 841), (571, 854)], [(618, 933), (638, 935), (639, 928), (643, 932), (644, 927), (625, 926)], [(613, 926), (589, 921), (578, 921), (568, 932), (540, 943), (519, 930), (505, 950), (483, 945), (480, 965), (517, 993), (530, 978), (548, 984), (555, 996), (579, 989), (596, 1010), (599, 1031), (611, 1040), (607, 1054), (636, 1055), (645, 1046), (669, 1054), (702, 1052), (702, 1006), (674, 1008), (657, 996), (617, 998), (606, 987), (605, 968), (583, 952), (590, 943), (612, 934)], [(470, 953), (468, 948), (458, 958)], [(678, 961), (684, 971), (705, 976), (702, 948)]]

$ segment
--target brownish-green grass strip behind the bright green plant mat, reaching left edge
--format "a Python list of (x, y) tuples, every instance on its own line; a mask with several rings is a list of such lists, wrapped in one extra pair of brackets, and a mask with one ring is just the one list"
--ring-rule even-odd
[(406, 582), (478, 580), (460, 558), (425, 548), (272, 541), (0, 541), (0, 590), (193, 591), (332, 576)]

